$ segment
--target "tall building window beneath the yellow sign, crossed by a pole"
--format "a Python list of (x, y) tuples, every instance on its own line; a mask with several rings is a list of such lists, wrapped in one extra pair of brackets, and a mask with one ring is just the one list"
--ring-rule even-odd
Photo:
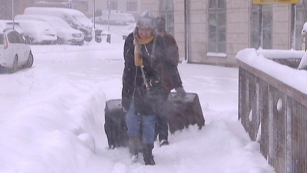
[(250, 47), (272, 48), (272, 5), (252, 4)]

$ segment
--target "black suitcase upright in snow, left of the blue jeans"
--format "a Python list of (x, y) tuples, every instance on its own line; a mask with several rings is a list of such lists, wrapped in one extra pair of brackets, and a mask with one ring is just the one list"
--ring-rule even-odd
[(106, 102), (104, 127), (110, 149), (128, 146), (125, 113), (121, 102), (121, 99)]

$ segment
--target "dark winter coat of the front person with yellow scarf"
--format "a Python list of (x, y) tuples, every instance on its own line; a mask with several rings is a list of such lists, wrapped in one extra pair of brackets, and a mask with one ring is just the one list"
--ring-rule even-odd
[[(134, 65), (133, 39), (133, 33), (130, 33), (124, 44), (123, 53), (125, 67), (123, 70), (122, 105), (124, 109), (128, 110), (133, 97), (137, 113), (142, 115), (154, 115), (162, 104), (162, 98), (153, 100), (146, 96), (146, 88), (144, 86), (141, 68)], [(146, 44), (146, 48), (150, 55), (152, 53), (153, 42), (154, 41), (151, 41)], [(154, 52), (154, 59), (151, 61), (150, 55), (148, 55), (145, 49), (145, 45), (141, 46), (141, 56), (146, 78), (152, 76), (162, 78), (162, 71), (165, 71), (168, 66), (171, 66), (170, 60), (168, 60), (170, 57), (168, 56), (165, 40), (160, 36), (157, 36)]]

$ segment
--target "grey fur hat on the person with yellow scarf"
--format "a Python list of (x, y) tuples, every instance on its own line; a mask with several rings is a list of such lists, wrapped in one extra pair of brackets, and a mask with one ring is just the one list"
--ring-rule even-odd
[(141, 29), (154, 29), (154, 16), (151, 15), (149, 10), (144, 11), (136, 22), (136, 27)]

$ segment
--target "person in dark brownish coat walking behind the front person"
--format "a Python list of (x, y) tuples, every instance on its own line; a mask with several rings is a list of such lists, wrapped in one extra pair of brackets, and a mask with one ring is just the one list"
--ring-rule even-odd
[[(168, 51), (169, 61), (167, 63), (166, 70), (164, 71), (165, 93), (163, 99), (166, 101), (169, 93), (172, 89), (176, 88), (176, 91), (180, 94), (180, 97), (184, 97), (185, 91), (182, 87), (182, 82), (178, 73), (177, 65), (179, 63), (179, 52), (175, 38), (165, 31), (165, 19), (162, 16), (155, 18), (155, 28), (158, 31), (158, 35), (164, 38)], [(171, 80), (172, 79), (172, 80)], [(167, 110), (161, 110), (156, 119), (155, 138), (159, 135), (160, 146), (168, 145), (168, 112)]]

